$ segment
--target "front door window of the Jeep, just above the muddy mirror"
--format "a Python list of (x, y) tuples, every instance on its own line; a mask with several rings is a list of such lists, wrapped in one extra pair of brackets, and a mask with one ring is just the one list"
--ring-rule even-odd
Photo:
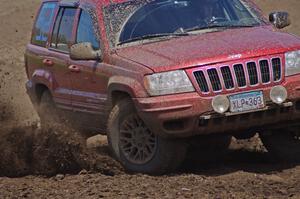
[(93, 21), (89, 12), (82, 10), (80, 14), (78, 29), (77, 29), (77, 43), (90, 42), (95, 50), (100, 48), (99, 39), (97, 37), (99, 29), (98, 24)]

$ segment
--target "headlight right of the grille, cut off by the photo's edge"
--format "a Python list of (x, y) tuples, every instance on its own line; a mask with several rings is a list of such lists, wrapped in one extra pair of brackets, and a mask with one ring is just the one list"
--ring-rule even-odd
[(300, 50), (285, 53), (285, 76), (300, 73)]

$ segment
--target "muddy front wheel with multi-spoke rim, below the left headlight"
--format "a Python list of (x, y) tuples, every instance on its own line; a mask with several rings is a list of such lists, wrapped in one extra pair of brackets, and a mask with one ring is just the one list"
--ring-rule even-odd
[[(126, 141), (126, 143), (122, 141), (122, 139), (124, 139), (124, 133), (122, 133), (122, 129), (123, 125), (130, 121), (131, 118), (135, 118), (136, 124), (140, 126), (131, 128), (126, 131), (130, 131), (129, 134), (131, 135), (131, 137), (129, 136), (129, 139), (137, 140), (137, 137), (143, 137), (144, 134), (147, 134), (147, 139), (151, 137), (148, 139), (148, 142), (150, 140), (153, 143), (150, 143), (148, 145), (148, 143), (145, 143), (146, 141), (143, 140), (141, 141), (142, 143), (138, 143), (137, 145), (135, 145), (135, 143), (133, 143), (135, 141), (131, 141), (129, 144), (129, 146), (131, 147), (129, 148), (131, 148), (132, 150), (130, 152), (127, 152), (126, 146), (129, 142)], [(137, 129), (142, 130), (136, 133)], [(155, 140), (155, 144), (153, 140)], [(156, 134), (153, 134), (138, 116), (133, 103), (129, 99), (123, 99), (119, 101), (111, 111), (108, 120), (108, 143), (114, 157), (121, 162), (121, 164), (127, 171), (133, 173), (146, 173), (150, 175), (162, 175), (176, 170), (185, 159), (187, 149), (186, 143), (183, 140), (179, 141), (163, 139)], [(141, 159), (144, 158), (144, 160), (141, 160), (140, 162), (138, 162), (137, 160), (133, 160), (134, 158), (132, 157), (129, 157), (132, 152), (134, 153), (134, 151), (139, 151), (139, 144), (142, 145), (142, 151), (144, 151), (145, 149), (149, 149), (150, 145), (155, 145), (155, 147), (151, 148), (151, 150), (148, 150), (148, 152), (151, 151), (148, 153), (151, 155), (148, 155), (146, 153), (144, 155), (141, 155)], [(135, 146), (136, 149), (133, 150)]]

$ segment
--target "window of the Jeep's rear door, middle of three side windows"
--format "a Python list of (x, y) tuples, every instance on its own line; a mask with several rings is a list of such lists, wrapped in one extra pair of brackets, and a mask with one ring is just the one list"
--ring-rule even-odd
[(69, 52), (76, 11), (76, 8), (60, 8), (52, 33), (52, 48)]

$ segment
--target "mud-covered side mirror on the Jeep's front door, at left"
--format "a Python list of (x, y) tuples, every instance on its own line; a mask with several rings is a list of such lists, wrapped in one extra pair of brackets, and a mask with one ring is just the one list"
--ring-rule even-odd
[(89, 42), (74, 44), (70, 49), (70, 58), (74, 60), (100, 60), (101, 50), (94, 50)]

